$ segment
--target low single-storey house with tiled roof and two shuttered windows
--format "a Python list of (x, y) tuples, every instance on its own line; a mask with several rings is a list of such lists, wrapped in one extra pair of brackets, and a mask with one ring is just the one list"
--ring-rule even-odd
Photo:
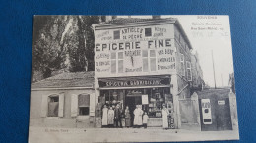
[(95, 127), (94, 71), (32, 83), (30, 126)]

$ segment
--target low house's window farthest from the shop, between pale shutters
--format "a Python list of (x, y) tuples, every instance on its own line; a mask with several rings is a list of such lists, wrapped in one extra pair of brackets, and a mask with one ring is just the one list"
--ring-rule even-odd
[(59, 112), (59, 96), (49, 96), (48, 117), (58, 117)]

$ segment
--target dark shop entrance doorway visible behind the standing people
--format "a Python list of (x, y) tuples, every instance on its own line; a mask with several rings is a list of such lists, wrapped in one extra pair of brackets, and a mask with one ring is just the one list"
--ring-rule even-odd
[(134, 114), (133, 111), (136, 109), (136, 105), (142, 104), (142, 96), (126, 96), (125, 98), (125, 108), (129, 107), (130, 115), (131, 115), (131, 125), (133, 126)]

